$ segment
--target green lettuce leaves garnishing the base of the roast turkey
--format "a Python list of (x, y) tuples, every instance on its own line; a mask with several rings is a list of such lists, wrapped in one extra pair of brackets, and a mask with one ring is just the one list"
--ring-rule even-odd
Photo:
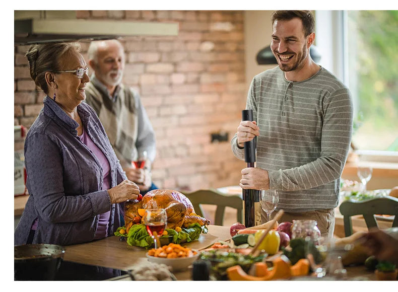
[[(123, 227), (119, 227), (114, 233), (115, 236), (127, 237), (127, 244), (131, 246), (139, 246), (145, 247), (147, 249), (151, 248), (154, 245), (154, 240), (148, 234), (147, 229), (144, 224), (136, 224), (133, 225), (128, 234), (120, 234), (119, 231)], [(204, 226), (200, 226), (198, 223), (194, 223), (190, 225), (188, 228), (181, 228), (180, 232), (176, 232), (174, 229), (165, 229), (168, 235), (164, 235), (160, 237), (160, 240), (167, 241), (167, 244), (172, 243), (181, 243), (181, 242), (190, 242), (199, 238), (201, 233), (208, 233), (208, 228)]]

